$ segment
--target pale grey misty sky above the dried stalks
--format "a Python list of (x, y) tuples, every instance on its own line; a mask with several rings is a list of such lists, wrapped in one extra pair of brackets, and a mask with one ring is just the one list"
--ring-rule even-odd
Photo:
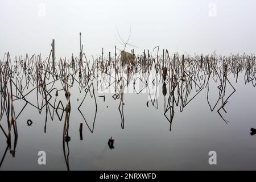
[[(42, 53), (48, 56), (55, 39), (57, 58), (84, 52), (100, 55), (123, 49), (117, 30), (143, 49), (160, 46), (170, 53), (255, 53), (256, 1), (10, 1), (0, 0), (0, 60)], [(133, 47), (127, 47), (130, 51)]]

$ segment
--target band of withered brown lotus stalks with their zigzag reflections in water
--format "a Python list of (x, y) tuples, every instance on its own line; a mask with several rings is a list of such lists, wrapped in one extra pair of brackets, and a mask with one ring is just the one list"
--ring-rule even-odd
[[(159, 48), (159, 47), (158, 47)], [(225, 107), (228, 100), (236, 89), (230, 82), (231, 76), (245, 72), (245, 84), (256, 85), (255, 77), (255, 56), (253, 55), (230, 55), (217, 56), (216, 53), (206, 56), (191, 56), (178, 53), (169, 55), (167, 50), (163, 50), (163, 55), (152, 56), (144, 51), (142, 56), (135, 56), (132, 53), (122, 52), (119, 56), (109, 55), (97, 57), (91, 62), (84, 53), (82, 46), (80, 57), (73, 57), (71, 61), (60, 59), (57, 61), (54, 54), (54, 42), (52, 51), (46, 60), (42, 60), (41, 55), (33, 55), (25, 58), (22, 56), (11, 61), (9, 53), (1, 61), (1, 115), (0, 128), (7, 140), (7, 146), (2, 155), (0, 167), (9, 150), (15, 156), (15, 148), (18, 141), (18, 129), (16, 120), (22, 111), (28, 106), (38, 109), (39, 114), (42, 110), (46, 111), (44, 133), (47, 133), (47, 120), (53, 120), (54, 115), (60, 121), (64, 121), (63, 126), (63, 153), (67, 169), (69, 170), (69, 118), (72, 108), (72, 89), (78, 85), (79, 93), (84, 94), (83, 100), (77, 108), (84, 122), (91, 133), (97, 115), (97, 99), (94, 85), (97, 91), (112, 94), (113, 100), (119, 100), (118, 109), (121, 117), (121, 128), (125, 128), (125, 93), (142, 94), (148, 93), (149, 100), (145, 107), (158, 106), (159, 87), (162, 85), (164, 96), (163, 114), (170, 122), (170, 131), (175, 111), (182, 112), (184, 107), (204, 89), (207, 89), (207, 102), (211, 111), (217, 111), (225, 123), (229, 121), (225, 118)], [(97, 85), (96, 85), (97, 84)], [(130, 86), (131, 85), (131, 86)], [(76, 88), (77, 88), (76, 87)], [(210, 100), (211, 92), (216, 96), (216, 100)], [(230, 92), (230, 90), (232, 90)], [(228, 92), (229, 91), (229, 92)], [(66, 100), (60, 97), (65, 96)], [(31, 101), (31, 97), (36, 101)], [(61, 100), (60, 100), (60, 99)], [(83, 110), (86, 105), (86, 98), (93, 100), (95, 108), (92, 126), (89, 125), (86, 115), (88, 111)], [(98, 97), (97, 97), (98, 98)], [(105, 95), (99, 96), (98, 100), (105, 102)], [(23, 101), (25, 104), (19, 113), (15, 113), (14, 102)], [(77, 99), (77, 101), (79, 101)], [(65, 105), (65, 107), (64, 107)], [(73, 109), (74, 110), (74, 109)], [(64, 114), (65, 113), (65, 114)], [(3, 127), (6, 122), (6, 128)], [(32, 125), (30, 119), (27, 120), (28, 126)], [(82, 140), (82, 123), (80, 123), (80, 140)], [(13, 133), (13, 135), (11, 135)], [(251, 135), (256, 133), (251, 129)], [(13, 137), (14, 136), (14, 139)], [(108, 141), (110, 149), (114, 148), (114, 139)]]

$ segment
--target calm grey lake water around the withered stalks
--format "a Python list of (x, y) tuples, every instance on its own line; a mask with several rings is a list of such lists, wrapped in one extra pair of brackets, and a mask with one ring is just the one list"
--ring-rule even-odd
[[(200, 58), (190, 62), (188, 57), (184, 67), (181, 63), (165, 64), (166, 81), (160, 62), (158, 73), (154, 66), (145, 68), (138, 63), (129, 68), (131, 72), (126, 69), (110, 75), (111, 66), (104, 73), (107, 62), (98, 69), (84, 64), (82, 71), (77, 65), (74, 71), (70, 64), (66, 73), (71, 109), (65, 137), (64, 108), (68, 98), (61, 64), (53, 76), (46, 75), (46, 106), (44, 86), (36, 84), (36, 75), (44, 78), (44, 72), (39, 74), (28, 61), (27, 67), (34, 69), (26, 68), (24, 74), (24, 63), (18, 63), (19, 71), (12, 78), (18, 140), (13, 156), (13, 129), (11, 150), (6, 148), (7, 138), (0, 130), (0, 169), (255, 170), (256, 135), (250, 134), (250, 129), (256, 128), (255, 57), (241, 60), (241, 66), (232, 59), (226, 64), (218, 61), (214, 66), (205, 60), (201, 66), (196, 64)], [(59, 89), (58, 96), (55, 88)], [(19, 90), (23, 90), (22, 94)], [(7, 132), (7, 107), (1, 96), (0, 123)], [(28, 119), (32, 121), (30, 126)], [(111, 137), (114, 148), (108, 144)], [(39, 151), (46, 152), (46, 165), (38, 164)], [(217, 165), (209, 165), (209, 151), (216, 151)]]

